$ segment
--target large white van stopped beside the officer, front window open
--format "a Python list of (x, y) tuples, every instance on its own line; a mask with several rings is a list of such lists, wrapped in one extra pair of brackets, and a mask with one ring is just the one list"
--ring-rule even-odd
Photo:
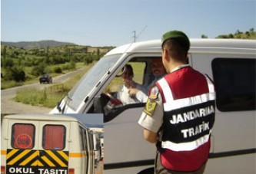
[[(108, 52), (85, 74), (52, 113), (103, 113), (105, 173), (153, 173), (155, 145), (138, 126), (145, 103), (115, 99), (125, 64), (139, 84), (151, 82), (151, 60), (161, 41), (127, 44)], [(205, 173), (255, 173), (256, 41), (191, 39), (188, 64), (208, 74), (217, 92), (211, 155)]]

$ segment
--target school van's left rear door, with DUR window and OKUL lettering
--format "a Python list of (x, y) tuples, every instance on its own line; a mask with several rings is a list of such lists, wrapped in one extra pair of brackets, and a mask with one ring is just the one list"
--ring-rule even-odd
[(8, 120), (6, 174), (38, 173), (38, 124)]

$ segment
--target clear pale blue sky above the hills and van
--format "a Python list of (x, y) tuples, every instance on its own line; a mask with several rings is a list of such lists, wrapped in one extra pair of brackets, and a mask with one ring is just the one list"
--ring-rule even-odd
[(251, 28), (256, 0), (1, 0), (1, 41), (117, 47), (170, 30), (215, 38)]

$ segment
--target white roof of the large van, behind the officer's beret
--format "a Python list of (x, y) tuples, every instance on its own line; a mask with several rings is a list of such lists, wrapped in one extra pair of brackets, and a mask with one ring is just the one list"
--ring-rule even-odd
[[(188, 52), (231, 52), (255, 54), (256, 40), (245, 39), (190, 39), (191, 48)], [(161, 52), (161, 40), (141, 41), (125, 44), (108, 52), (108, 54), (123, 53), (159, 53)], [(107, 54), (107, 55), (108, 55)]]

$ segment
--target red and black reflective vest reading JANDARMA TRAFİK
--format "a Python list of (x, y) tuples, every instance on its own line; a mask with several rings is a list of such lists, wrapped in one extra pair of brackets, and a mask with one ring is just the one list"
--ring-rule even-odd
[(214, 84), (192, 67), (158, 80), (163, 99), (161, 163), (175, 171), (195, 171), (206, 163), (214, 125)]

